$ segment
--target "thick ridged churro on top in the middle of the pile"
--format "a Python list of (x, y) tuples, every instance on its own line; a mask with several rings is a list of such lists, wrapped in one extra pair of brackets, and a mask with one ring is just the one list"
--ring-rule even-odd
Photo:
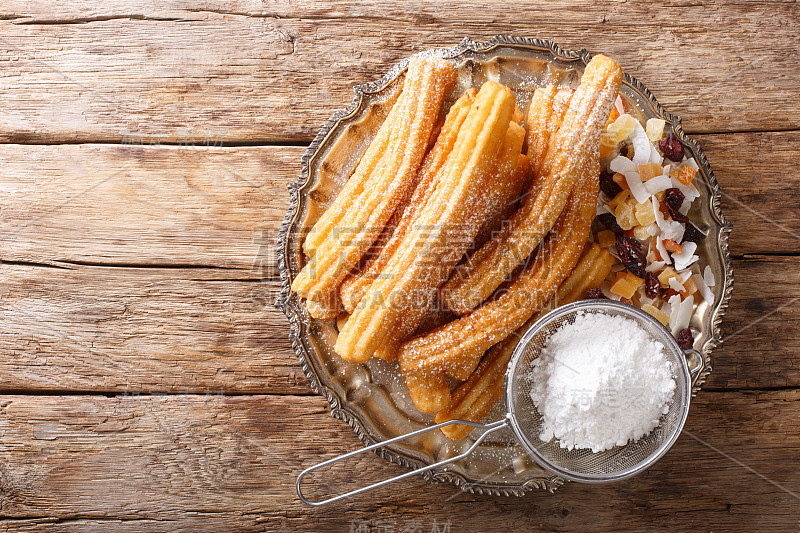
[(427, 310), (483, 222), (476, 213), (492, 197), (497, 155), (513, 126), (514, 107), (508, 87), (495, 82), (481, 87), (417, 227), (403, 238), (385, 275), (364, 296), (369, 300), (355, 309), (339, 333), (335, 350), (340, 356), (368, 360)]

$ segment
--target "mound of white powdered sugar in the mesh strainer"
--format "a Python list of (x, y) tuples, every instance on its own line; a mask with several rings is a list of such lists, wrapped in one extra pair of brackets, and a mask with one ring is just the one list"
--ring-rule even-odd
[(650, 433), (675, 393), (664, 346), (635, 321), (580, 313), (546, 342), (527, 376), (542, 440), (600, 452)]

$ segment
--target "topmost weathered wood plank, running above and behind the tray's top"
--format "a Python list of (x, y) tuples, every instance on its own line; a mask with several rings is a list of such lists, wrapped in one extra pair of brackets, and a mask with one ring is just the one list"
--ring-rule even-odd
[[(692, 132), (800, 128), (794, 2), (5, 2), (0, 139), (309, 140), (410, 53), (464, 36), (613, 55)], [(221, 38), (224, 36), (224, 38)], [(36, 46), (31, 46), (31, 43)]]

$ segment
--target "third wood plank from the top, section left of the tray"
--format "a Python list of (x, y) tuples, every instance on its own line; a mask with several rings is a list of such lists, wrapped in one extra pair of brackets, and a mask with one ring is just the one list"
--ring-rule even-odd
[(278, 284), (215, 269), (0, 265), (0, 388), (308, 394)]

